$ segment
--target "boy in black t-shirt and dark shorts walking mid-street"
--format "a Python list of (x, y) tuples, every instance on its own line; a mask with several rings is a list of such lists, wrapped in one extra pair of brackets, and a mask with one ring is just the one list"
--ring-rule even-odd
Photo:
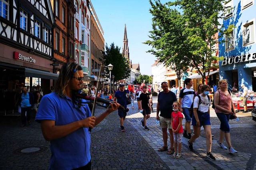
[(140, 94), (140, 110), (142, 110), (143, 119), (141, 120), (142, 127), (145, 130), (149, 130), (147, 127), (147, 119), (150, 118), (151, 107), (149, 102), (149, 94), (147, 93), (147, 86), (142, 87), (142, 93)]

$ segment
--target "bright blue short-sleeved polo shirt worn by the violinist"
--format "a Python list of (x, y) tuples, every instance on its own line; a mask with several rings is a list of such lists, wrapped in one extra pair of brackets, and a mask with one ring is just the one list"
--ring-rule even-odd
[[(53, 120), (56, 126), (60, 126), (90, 116), (87, 104), (79, 108), (70, 98), (52, 92), (42, 98), (35, 121), (40, 123), (41, 120)], [(51, 140), (49, 169), (70, 170), (88, 164), (91, 160), (90, 140), (88, 128), (79, 128), (67, 136)]]

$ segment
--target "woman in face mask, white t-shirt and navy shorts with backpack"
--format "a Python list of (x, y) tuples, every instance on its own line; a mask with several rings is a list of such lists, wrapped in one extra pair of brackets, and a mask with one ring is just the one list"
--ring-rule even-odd
[(210, 123), (210, 97), (209, 95), (210, 87), (208, 85), (203, 85), (201, 89), (201, 94), (194, 99), (194, 115), (192, 117), (192, 125), (195, 130), (195, 134), (188, 139), (188, 148), (193, 150), (193, 142), (200, 136), (201, 127), (204, 127), (204, 132), (206, 135), (206, 147), (207, 153), (206, 157), (211, 160), (215, 160), (212, 155), (212, 135), (211, 135), (211, 123)]

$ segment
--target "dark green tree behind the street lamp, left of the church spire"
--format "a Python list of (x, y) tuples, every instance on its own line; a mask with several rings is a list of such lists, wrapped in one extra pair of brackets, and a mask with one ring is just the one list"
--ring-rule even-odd
[(130, 76), (131, 68), (129, 65), (129, 61), (126, 60), (125, 57), (120, 53), (120, 47), (115, 46), (114, 43), (105, 45), (106, 51), (103, 56), (104, 61), (104, 71), (106, 73), (106, 77), (109, 78), (109, 70), (108, 65), (111, 63), (113, 65), (113, 69), (111, 74), (115, 76), (115, 80), (126, 79)]

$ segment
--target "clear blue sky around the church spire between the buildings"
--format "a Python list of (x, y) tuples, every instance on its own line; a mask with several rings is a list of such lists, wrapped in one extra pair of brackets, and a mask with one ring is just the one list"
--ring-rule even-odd
[[(156, 57), (146, 53), (151, 46), (143, 44), (152, 30), (152, 15), (149, 13), (148, 0), (91, 0), (104, 31), (105, 44), (114, 42), (120, 47), (124, 38), (126, 24), (130, 59), (132, 63), (140, 63), (141, 74), (151, 75), (151, 65)], [(167, 2), (167, 0), (162, 0)]]

